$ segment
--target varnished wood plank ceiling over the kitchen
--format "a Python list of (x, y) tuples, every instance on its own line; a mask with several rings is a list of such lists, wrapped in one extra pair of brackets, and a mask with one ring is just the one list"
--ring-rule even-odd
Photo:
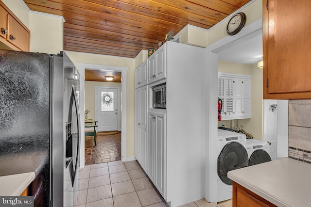
[(64, 50), (135, 58), (187, 24), (208, 29), (250, 0), (24, 0), (64, 16)]

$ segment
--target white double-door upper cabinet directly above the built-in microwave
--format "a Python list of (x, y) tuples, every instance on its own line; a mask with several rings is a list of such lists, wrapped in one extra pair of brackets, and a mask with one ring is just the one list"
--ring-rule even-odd
[(166, 47), (167, 44), (158, 48), (148, 60), (148, 84), (166, 78)]

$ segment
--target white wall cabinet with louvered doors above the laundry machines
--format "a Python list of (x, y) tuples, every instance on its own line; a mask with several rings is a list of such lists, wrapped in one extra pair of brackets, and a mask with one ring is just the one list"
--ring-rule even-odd
[(251, 118), (251, 76), (218, 73), (218, 97), (222, 120)]

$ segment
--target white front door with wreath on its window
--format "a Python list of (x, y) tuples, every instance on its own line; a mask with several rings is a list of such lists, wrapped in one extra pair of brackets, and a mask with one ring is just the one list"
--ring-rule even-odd
[(118, 130), (118, 89), (97, 88), (97, 131)]

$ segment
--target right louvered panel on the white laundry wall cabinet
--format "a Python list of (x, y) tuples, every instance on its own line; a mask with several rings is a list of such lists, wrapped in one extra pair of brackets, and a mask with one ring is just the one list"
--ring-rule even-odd
[(233, 117), (233, 79), (225, 78), (225, 116), (224, 118)]

